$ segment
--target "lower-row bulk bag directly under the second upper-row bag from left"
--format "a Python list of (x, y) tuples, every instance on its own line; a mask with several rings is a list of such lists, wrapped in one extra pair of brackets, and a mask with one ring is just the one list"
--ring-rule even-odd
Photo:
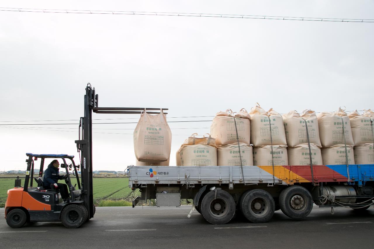
[[(272, 151), (273, 147), (273, 151)], [(287, 145), (263, 145), (253, 148), (253, 165), (288, 165)]]

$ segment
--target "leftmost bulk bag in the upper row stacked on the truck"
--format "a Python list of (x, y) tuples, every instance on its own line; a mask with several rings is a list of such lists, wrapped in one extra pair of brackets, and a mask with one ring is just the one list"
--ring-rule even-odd
[(215, 143), (217, 145), (233, 144), (237, 142), (237, 130), (239, 142), (250, 144), (250, 119), (251, 117), (244, 108), (242, 108), (239, 113), (233, 113), (230, 109), (220, 111), (215, 114), (213, 119), (211, 125), (211, 136), (212, 138), (215, 138)]

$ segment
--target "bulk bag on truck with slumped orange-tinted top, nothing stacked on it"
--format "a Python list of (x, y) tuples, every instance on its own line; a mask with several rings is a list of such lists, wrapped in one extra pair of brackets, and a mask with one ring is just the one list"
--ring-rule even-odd
[(179, 149), (181, 166), (217, 166), (217, 145), (209, 134), (196, 138), (193, 133)]

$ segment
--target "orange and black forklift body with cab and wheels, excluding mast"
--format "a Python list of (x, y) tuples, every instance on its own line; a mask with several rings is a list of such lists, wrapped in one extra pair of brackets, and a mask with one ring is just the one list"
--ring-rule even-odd
[[(28, 159), (24, 187), (14, 187), (7, 191), (5, 203), (5, 218), (12, 228), (22, 227), (26, 222), (58, 222), (67, 228), (80, 227), (88, 218), (88, 212), (83, 205), (82, 191), (74, 156), (67, 154), (31, 154), (26, 153)], [(46, 158), (62, 159), (60, 167), (66, 170), (65, 182), (68, 185), (70, 197), (63, 202), (61, 195), (53, 188), (43, 187), (43, 167)], [(40, 159), (39, 176), (34, 178), (34, 161)], [(71, 163), (67, 164), (66, 160)], [(73, 169), (77, 184), (71, 185), (68, 170)], [(37, 186), (33, 186), (33, 178)], [(16, 181), (16, 185), (17, 181)], [(18, 185), (20, 186), (20, 185)], [(53, 185), (52, 185), (53, 186)], [(76, 189), (77, 187), (77, 189)], [(95, 207), (93, 207), (93, 210)]]

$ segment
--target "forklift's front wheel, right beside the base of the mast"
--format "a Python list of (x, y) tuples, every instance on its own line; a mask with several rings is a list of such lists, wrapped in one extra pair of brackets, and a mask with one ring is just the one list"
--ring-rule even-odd
[(87, 216), (86, 207), (71, 204), (62, 210), (61, 222), (67, 228), (78, 228), (86, 221)]

